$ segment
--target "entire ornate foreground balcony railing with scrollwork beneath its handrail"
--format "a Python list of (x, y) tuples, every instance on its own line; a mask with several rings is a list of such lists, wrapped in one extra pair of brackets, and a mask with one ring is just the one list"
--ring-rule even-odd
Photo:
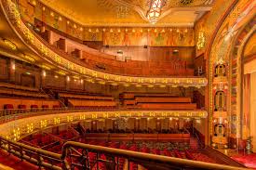
[[(172, 158), (138, 151), (119, 150), (69, 141), (62, 147), (61, 154), (41, 150), (19, 142), (0, 137), (0, 148), (17, 156), (22, 161), (34, 163), (40, 168), (54, 170), (71, 169), (132, 169), (142, 166), (151, 169), (222, 169), (248, 170), (243, 167), (217, 163), (203, 163), (180, 158)], [(124, 167), (124, 163), (127, 167)]]

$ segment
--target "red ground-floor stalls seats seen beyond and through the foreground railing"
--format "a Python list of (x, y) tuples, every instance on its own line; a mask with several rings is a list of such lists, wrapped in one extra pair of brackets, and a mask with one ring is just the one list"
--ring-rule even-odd
[[(61, 131), (59, 134), (53, 134), (51, 136), (44, 134), (37, 134), (31, 137), (26, 137), (22, 139), (26, 144), (29, 143), (32, 146), (37, 146), (39, 148), (45, 148), (46, 150), (53, 151), (56, 153), (61, 153), (62, 149), (62, 142), (58, 142), (57, 139), (54, 137), (61, 137), (61, 139), (73, 139), (75, 136), (71, 131), (64, 130)], [(189, 146), (186, 143), (171, 143), (171, 142), (145, 142), (145, 141), (102, 141), (98, 139), (94, 140), (85, 140), (85, 138), (80, 137), (74, 139), (74, 141), (79, 141), (82, 143), (87, 143), (89, 145), (97, 145), (102, 147), (114, 148), (114, 149), (121, 149), (121, 150), (132, 150), (132, 151), (141, 151), (144, 153), (152, 153), (157, 155), (163, 155), (168, 157), (176, 157), (181, 159), (189, 159), (195, 161), (203, 161), (208, 163), (216, 163), (215, 160), (209, 158), (208, 155), (200, 152), (199, 150), (189, 150)], [(46, 147), (51, 146), (51, 147)], [(77, 149), (76, 151), (82, 153), (82, 149)], [(76, 152), (77, 153), (77, 152)], [(96, 161), (96, 152), (89, 151), (88, 158), (89, 163), (93, 167), (93, 163)], [(103, 163), (106, 160), (104, 153), (100, 154), (102, 162), (99, 164), (101, 169), (106, 169), (105, 164)], [(127, 160), (123, 158), (118, 158), (119, 162), (119, 169), (124, 169), (127, 166)], [(68, 160), (71, 161), (71, 160)], [(73, 158), (73, 163), (78, 162), (75, 157)], [(130, 163), (130, 169), (135, 170), (138, 169), (138, 164)]]

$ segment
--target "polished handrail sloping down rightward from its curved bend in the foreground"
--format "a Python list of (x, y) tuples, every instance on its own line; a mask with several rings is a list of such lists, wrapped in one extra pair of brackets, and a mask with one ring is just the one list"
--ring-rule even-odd
[(63, 145), (61, 158), (65, 159), (68, 155), (68, 151), (71, 148), (82, 149), (82, 150), (90, 150), (92, 152), (100, 152), (107, 155), (112, 155), (114, 157), (123, 157), (127, 158), (129, 161), (139, 164), (148, 163), (148, 165), (153, 165), (155, 167), (155, 163), (163, 168), (169, 167), (179, 167), (178, 169), (186, 169), (186, 168), (198, 168), (198, 169), (222, 169), (222, 170), (248, 170), (247, 168), (241, 168), (236, 166), (229, 166), (217, 163), (203, 163), (191, 160), (185, 160), (180, 158), (173, 158), (167, 156), (160, 156), (149, 153), (142, 153), (138, 151), (130, 151), (130, 150), (119, 150), (106, 148), (101, 146), (94, 146), (83, 144), (79, 142), (69, 141)]

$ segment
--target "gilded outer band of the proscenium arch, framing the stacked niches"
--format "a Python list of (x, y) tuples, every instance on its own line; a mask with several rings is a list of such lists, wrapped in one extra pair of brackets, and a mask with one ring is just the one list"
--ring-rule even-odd
[[(240, 3), (240, 4), (239, 4)], [(247, 25), (247, 23), (249, 22), (249, 20), (254, 18), (254, 4), (252, 1), (248, 1), (244, 4), (242, 4), (239, 1), (234, 1), (233, 4), (231, 5), (231, 7), (229, 7), (229, 9), (226, 11), (225, 14), (223, 14), (222, 19), (220, 20), (220, 22), (217, 24), (216, 30), (214, 31), (214, 33), (211, 35), (210, 41), (209, 41), (209, 45), (206, 48), (206, 59), (209, 59), (209, 65), (207, 64), (207, 67), (209, 67), (209, 103), (207, 103), (206, 105), (209, 106), (207, 109), (209, 111), (209, 144), (211, 143), (211, 137), (212, 137), (212, 133), (213, 133), (213, 126), (212, 126), (212, 117), (213, 117), (213, 78), (214, 78), (214, 66), (217, 61), (218, 61), (218, 55), (222, 55), (222, 58), (224, 59), (225, 63), (230, 63), (229, 57), (230, 54), (232, 52), (233, 49), (233, 45), (234, 42), (236, 41), (236, 35), (239, 34), (241, 32), (241, 30), (243, 30), (243, 28), (245, 27), (245, 25)], [(241, 15), (238, 16), (236, 18), (236, 20), (228, 20), (230, 15), (232, 15), (232, 9), (235, 7), (240, 7), (241, 9)], [(246, 14), (246, 15), (244, 15)], [(226, 33), (222, 32), (224, 31), (223, 26), (228, 26), (228, 29), (226, 30)], [(230, 33), (231, 32), (231, 33)], [(224, 34), (223, 34), (224, 33)], [(228, 35), (229, 37), (227, 38), (226, 43), (224, 44), (224, 37), (226, 37), (226, 35)], [(219, 50), (220, 48), (217, 48), (217, 45), (222, 45), (224, 46), (222, 48), (222, 51)], [(218, 52), (218, 53), (215, 53)], [(222, 53), (220, 53), (222, 52)], [(220, 54), (219, 54), (220, 53)], [(218, 55), (216, 55), (218, 54)], [(227, 78), (230, 78), (230, 64), (227, 65)], [(227, 81), (228, 84), (228, 98), (227, 98), (227, 108), (228, 108), (228, 115), (230, 115), (230, 103), (231, 103), (231, 98), (230, 98), (230, 94), (231, 94), (231, 82), (230, 80)], [(230, 120), (230, 116), (228, 116), (228, 119)], [(230, 121), (229, 121), (230, 122)], [(230, 126), (230, 124), (228, 125)], [(240, 132), (239, 132), (240, 133)], [(229, 132), (227, 137), (229, 136)]]

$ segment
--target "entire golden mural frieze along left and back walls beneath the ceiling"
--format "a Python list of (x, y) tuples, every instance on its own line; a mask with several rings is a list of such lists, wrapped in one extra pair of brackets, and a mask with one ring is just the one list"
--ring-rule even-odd
[(88, 28), (61, 17), (41, 3), (36, 6), (26, 0), (19, 3), (24, 20), (33, 24), (34, 20), (41, 20), (82, 41), (102, 41), (105, 46), (195, 46), (192, 28)]

